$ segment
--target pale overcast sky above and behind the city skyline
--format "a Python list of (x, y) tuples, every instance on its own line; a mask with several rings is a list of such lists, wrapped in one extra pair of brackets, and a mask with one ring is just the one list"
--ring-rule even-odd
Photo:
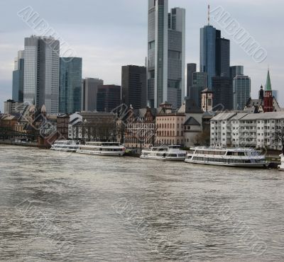
[[(169, 7), (186, 9), (186, 63), (199, 64), (200, 28), (207, 24), (203, 0), (169, 0)], [(31, 6), (40, 18), (83, 59), (83, 77), (99, 77), (105, 84), (121, 85), (121, 66), (144, 65), (147, 55), (148, 0), (3, 0), (0, 16), (0, 110), (12, 96), (13, 60), (23, 50), (23, 39), (35, 31), (17, 13)], [(267, 58), (254, 62), (212, 19), (212, 25), (231, 39), (231, 65), (244, 65), (251, 76), (251, 96), (257, 97), (266, 82), (268, 65), (273, 89), (279, 90), (283, 105), (284, 2), (283, 0), (212, 0), (211, 8), (222, 6), (267, 51)]]

